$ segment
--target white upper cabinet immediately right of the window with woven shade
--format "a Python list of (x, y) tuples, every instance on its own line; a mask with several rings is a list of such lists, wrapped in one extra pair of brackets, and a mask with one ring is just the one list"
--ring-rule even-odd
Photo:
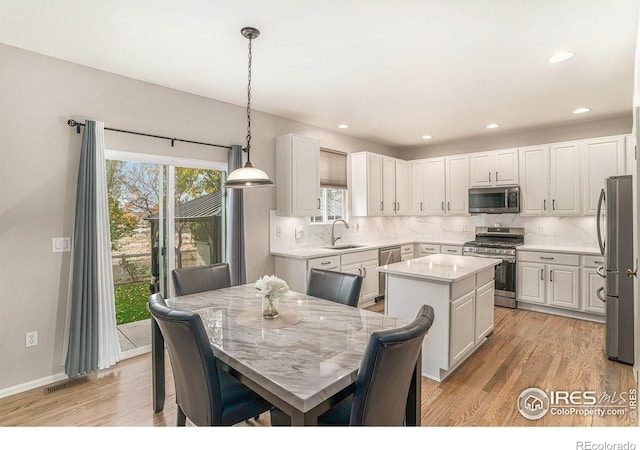
[(407, 161), (370, 152), (351, 154), (353, 216), (410, 213), (411, 166)]

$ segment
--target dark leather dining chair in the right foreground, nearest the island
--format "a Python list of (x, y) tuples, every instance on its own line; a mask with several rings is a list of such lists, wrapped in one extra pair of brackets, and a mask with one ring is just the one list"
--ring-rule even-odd
[[(423, 305), (409, 325), (372, 333), (358, 370), (354, 393), (318, 417), (318, 425), (404, 425), (409, 389), (422, 342), (433, 320), (433, 308)], [(420, 411), (417, 415), (419, 418)], [(280, 409), (271, 409), (271, 425), (290, 423), (289, 416)]]

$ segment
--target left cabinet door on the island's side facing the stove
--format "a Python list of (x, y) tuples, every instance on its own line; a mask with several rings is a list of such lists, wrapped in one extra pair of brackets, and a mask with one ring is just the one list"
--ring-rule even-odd
[(449, 365), (454, 366), (475, 346), (475, 291), (451, 302)]

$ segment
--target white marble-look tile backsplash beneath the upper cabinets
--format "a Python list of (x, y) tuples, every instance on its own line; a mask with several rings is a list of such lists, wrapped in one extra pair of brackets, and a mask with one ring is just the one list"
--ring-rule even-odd
[[(473, 240), (476, 226), (525, 228), (525, 244), (588, 247), (598, 246), (596, 219), (581, 217), (529, 217), (519, 214), (471, 216), (353, 217), (349, 228), (338, 223), (339, 244), (357, 244), (386, 239), (463, 243)], [(306, 217), (269, 214), (271, 251), (322, 247), (330, 244), (330, 224), (310, 224)]]

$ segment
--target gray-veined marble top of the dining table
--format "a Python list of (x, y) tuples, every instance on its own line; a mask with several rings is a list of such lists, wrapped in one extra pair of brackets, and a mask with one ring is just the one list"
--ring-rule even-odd
[(409, 323), (290, 291), (280, 306), (301, 313), (300, 322), (247, 327), (236, 317), (261, 308), (253, 284), (174, 297), (167, 304), (197, 312), (216, 357), (302, 412), (355, 382), (372, 332)]

